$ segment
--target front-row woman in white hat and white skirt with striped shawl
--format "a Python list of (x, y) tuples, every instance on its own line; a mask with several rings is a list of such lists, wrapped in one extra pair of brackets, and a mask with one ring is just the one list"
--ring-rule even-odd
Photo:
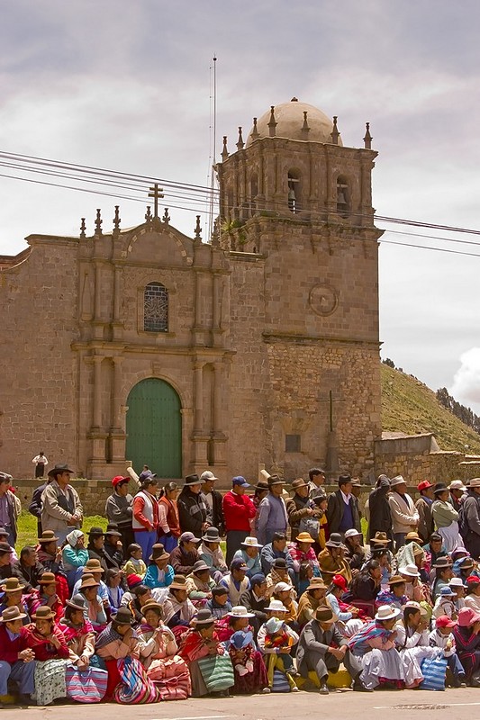
[(403, 663), (395, 649), (395, 623), (401, 611), (392, 606), (378, 608), (375, 620), (349, 639), (351, 652), (361, 659), (360, 680), (368, 689), (403, 689)]

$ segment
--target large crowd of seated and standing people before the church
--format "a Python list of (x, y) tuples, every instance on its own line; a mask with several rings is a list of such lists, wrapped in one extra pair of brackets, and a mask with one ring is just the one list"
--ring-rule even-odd
[(362, 692), (480, 687), (480, 479), (414, 501), (380, 475), (360, 509), (360, 482), (327, 495), (320, 468), (289, 493), (265, 473), (222, 494), (209, 471), (160, 489), (144, 467), (113, 478), (106, 529), (86, 533), (72, 473), (38, 475), (38, 536), (17, 549), (0, 473), (0, 696), (327, 695), (340, 669)]

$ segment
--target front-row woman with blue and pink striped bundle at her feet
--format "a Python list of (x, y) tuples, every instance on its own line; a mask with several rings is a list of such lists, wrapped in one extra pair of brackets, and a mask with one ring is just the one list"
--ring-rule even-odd
[(67, 600), (65, 616), (59, 629), (68, 645), (68, 665), (65, 675), (68, 698), (79, 703), (99, 703), (106, 692), (108, 673), (98, 666), (95, 653), (95, 633), (86, 619), (86, 599), (74, 595)]

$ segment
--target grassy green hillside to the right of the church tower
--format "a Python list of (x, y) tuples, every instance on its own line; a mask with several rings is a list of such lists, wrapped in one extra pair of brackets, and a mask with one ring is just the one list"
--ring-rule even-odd
[(380, 367), (385, 431), (408, 435), (433, 433), (441, 450), (480, 454), (480, 435), (440, 405), (435, 392), (412, 375), (403, 374), (384, 363)]

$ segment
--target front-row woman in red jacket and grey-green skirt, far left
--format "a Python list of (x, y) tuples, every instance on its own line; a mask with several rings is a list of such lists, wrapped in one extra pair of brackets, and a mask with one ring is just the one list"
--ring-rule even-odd
[(35, 692), (37, 705), (51, 705), (55, 698), (65, 698), (65, 671), (68, 661), (68, 645), (55, 613), (47, 605), (41, 605), (32, 615), (34, 625), (28, 627), (27, 643), (35, 655)]

